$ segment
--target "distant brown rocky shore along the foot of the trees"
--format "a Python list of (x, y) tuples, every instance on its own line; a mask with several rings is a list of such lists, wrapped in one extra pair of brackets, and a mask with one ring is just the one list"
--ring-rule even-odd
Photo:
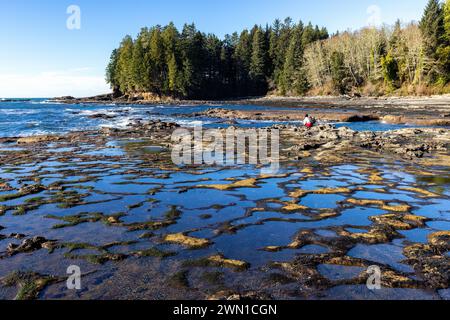
[(435, 97), (262, 97), (225, 101), (193, 101), (174, 99), (144, 100), (142, 97), (114, 97), (113, 94), (88, 98), (61, 97), (52, 101), (65, 104), (118, 104), (118, 105), (258, 105), (272, 107), (265, 111), (229, 111), (211, 109), (186, 116), (210, 116), (222, 119), (298, 121), (305, 113), (317, 119), (332, 122), (382, 121), (388, 124), (420, 126), (450, 126), (450, 96)]

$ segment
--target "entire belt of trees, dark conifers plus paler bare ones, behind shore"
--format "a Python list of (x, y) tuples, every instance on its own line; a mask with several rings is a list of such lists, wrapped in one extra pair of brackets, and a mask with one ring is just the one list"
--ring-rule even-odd
[(312, 23), (219, 39), (173, 23), (126, 36), (106, 70), (116, 95), (180, 99), (450, 92), (450, 0), (429, 0), (420, 22), (329, 35)]

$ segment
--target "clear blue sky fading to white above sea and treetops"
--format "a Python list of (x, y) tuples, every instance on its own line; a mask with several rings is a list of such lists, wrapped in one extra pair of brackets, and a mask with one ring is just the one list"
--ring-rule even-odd
[(109, 92), (104, 70), (123, 36), (194, 22), (227, 33), (290, 16), (330, 33), (420, 20), (428, 0), (0, 0), (0, 97)]

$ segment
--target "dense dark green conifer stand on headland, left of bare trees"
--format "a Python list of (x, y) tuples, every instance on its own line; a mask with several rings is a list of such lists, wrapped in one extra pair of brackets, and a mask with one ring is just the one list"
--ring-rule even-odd
[(303, 94), (304, 45), (328, 38), (325, 28), (291, 19), (272, 27), (255, 26), (223, 40), (198, 31), (194, 24), (178, 32), (173, 23), (143, 28), (126, 36), (111, 55), (106, 80), (127, 96), (151, 93), (186, 99), (265, 95), (268, 90)]

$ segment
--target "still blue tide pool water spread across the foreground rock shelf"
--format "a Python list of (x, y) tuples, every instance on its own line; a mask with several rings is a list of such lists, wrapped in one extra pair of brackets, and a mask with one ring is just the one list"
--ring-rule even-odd
[[(134, 147), (128, 148), (129, 143)], [(225, 287), (266, 292), (280, 299), (300, 299), (305, 296), (295, 292), (302, 287), (301, 282), (280, 284), (273, 280), (273, 273), (279, 272), (273, 263), (300, 259), (331, 281), (325, 289), (306, 286), (311, 290), (308, 298), (440, 297), (437, 290), (425, 290), (420, 285), (417, 289), (394, 287), (370, 293), (356, 280), (346, 285), (341, 282), (364, 275), (366, 268), (324, 263), (328, 255), (344, 255), (360, 259), (367, 266), (380, 265), (411, 279), (420, 279), (413, 266), (405, 261), (404, 249), (411, 243), (428, 242), (433, 232), (449, 230), (449, 188), (443, 184), (441, 192), (432, 199), (400, 190), (406, 182), (406, 185), (434, 190), (435, 185), (428, 184), (422, 176), (408, 173), (407, 163), (373, 155), (367, 159), (374, 160), (361, 161), (361, 155), (355, 155), (354, 159), (348, 159), (349, 164), (313, 167), (310, 174), (301, 173), (300, 164), (289, 164), (282, 167), (280, 176), (261, 178), (260, 171), (251, 167), (170, 171), (147, 166), (141, 159), (146, 157), (145, 153), (136, 152), (136, 148), (153, 146), (151, 141), (147, 144), (142, 140), (110, 141), (108, 145), (116, 149), (106, 153), (86, 146), (85, 157), (75, 161), (76, 152), (55, 143), (53, 151), (60, 149), (61, 153), (49, 153), (47, 159), (36, 160), (36, 163), (0, 168), (1, 179), (14, 187), (32, 181), (40, 181), (45, 186), (58, 181), (64, 186), (62, 190), (45, 190), (0, 201), (0, 206), (8, 206), (0, 216), (0, 226), (4, 228), (0, 234), (22, 233), (26, 238), (44, 236), (65, 244), (53, 252), (41, 249), (1, 258), (0, 277), (16, 270), (64, 277), (66, 268), (75, 264), (83, 273), (94, 272), (83, 277), (81, 292), (75, 295), (56, 283), (45, 288), (39, 298), (203, 299)], [(382, 177), (377, 182), (379, 185), (373, 185), (367, 169), (379, 173)], [(433, 168), (423, 170), (441, 174)], [(252, 187), (211, 188), (230, 184), (230, 178), (249, 177), (258, 179)], [(317, 194), (322, 188), (348, 188), (349, 191)], [(309, 193), (293, 198), (292, 192), (299, 189)], [(12, 193), (14, 191), (4, 191), (0, 196)], [(33, 198), (34, 202), (30, 202)], [(423, 226), (399, 231), (395, 239), (377, 244), (355, 243), (341, 252), (336, 244), (338, 240), (343, 241), (343, 234), (368, 234), (374, 225), (373, 217), (390, 213), (379, 205), (352, 204), (349, 199), (409, 205), (410, 213), (430, 220)], [(292, 203), (305, 208), (283, 209)], [(17, 208), (21, 206), (26, 207), (26, 212), (17, 215)], [(113, 216), (118, 218), (108, 222)], [(170, 223), (160, 227), (149, 224), (155, 222)], [(313, 240), (292, 245), (302, 232)], [(165, 240), (167, 235), (179, 233), (209, 243), (191, 248)], [(12, 238), (1, 240), (0, 253), (5, 253), (9, 243), (20, 242)], [(80, 248), (71, 251), (74, 245)], [(154, 251), (153, 256), (139, 254), (146, 249), (170, 255), (157, 256)], [(125, 256), (121, 261), (106, 260), (101, 264), (90, 260), (105, 252)], [(227, 265), (205, 265), (205, 258), (217, 254), (246, 262), (248, 268), (235, 270)], [(173, 275), (180, 271), (188, 273), (189, 287), (173, 284)], [(221, 273), (223, 283), (205, 280), (207, 272)], [(13, 298), (15, 293), (2, 288), (0, 298)]]

